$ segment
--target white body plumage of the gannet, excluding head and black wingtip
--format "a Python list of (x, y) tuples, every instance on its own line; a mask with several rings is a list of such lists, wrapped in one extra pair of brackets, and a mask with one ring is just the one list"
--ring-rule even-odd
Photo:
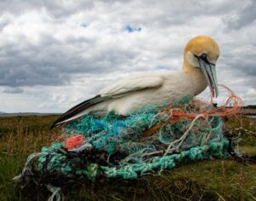
[(91, 106), (73, 118), (79, 118), (87, 112), (114, 111), (126, 115), (143, 106), (164, 106), (185, 95), (199, 95), (206, 88), (206, 79), (195, 82), (184, 72), (131, 75), (100, 91), (99, 95), (112, 99)]

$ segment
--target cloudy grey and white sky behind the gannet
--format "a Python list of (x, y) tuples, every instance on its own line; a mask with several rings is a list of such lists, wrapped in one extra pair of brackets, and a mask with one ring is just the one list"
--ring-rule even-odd
[(253, 0), (1, 0), (0, 111), (65, 112), (131, 71), (180, 70), (197, 35), (218, 42), (218, 83), (256, 104), (255, 10)]

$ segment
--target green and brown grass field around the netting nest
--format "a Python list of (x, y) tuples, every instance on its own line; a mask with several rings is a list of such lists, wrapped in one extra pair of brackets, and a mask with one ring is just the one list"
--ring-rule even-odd
[[(12, 178), (20, 174), (26, 158), (49, 146), (61, 129), (49, 131), (55, 116), (0, 118), (0, 200), (29, 200)], [(250, 118), (230, 118), (226, 129), (255, 131)], [(234, 132), (233, 132), (234, 134)], [(256, 155), (256, 138), (241, 131), (239, 149)], [(65, 191), (67, 200), (253, 200), (256, 199), (256, 164), (214, 160), (182, 164), (161, 175), (137, 181), (110, 180), (77, 185)]]

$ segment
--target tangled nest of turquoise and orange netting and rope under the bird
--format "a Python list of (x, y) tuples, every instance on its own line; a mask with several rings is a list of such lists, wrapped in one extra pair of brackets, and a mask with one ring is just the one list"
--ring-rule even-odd
[(85, 115), (65, 125), (61, 140), (27, 158), (15, 180), (61, 199), (61, 187), (72, 183), (138, 179), (183, 162), (228, 158), (223, 118), (239, 112), (241, 99), (224, 89), (229, 95), (218, 107), (183, 97), (172, 106), (147, 106), (125, 117)]

